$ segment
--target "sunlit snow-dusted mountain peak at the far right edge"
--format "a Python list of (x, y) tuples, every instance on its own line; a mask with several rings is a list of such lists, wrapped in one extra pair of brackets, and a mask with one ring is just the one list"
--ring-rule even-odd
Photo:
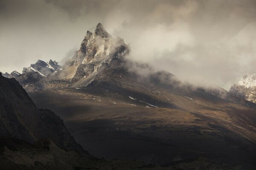
[(256, 103), (256, 74), (244, 74), (241, 80), (230, 88), (230, 93)]

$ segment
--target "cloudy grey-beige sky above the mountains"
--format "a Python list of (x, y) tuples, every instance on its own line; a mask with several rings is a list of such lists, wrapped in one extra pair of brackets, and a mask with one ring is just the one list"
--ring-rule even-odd
[(63, 62), (99, 22), (129, 58), (193, 83), (256, 73), (255, 0), (0, 0), (0, 71)]

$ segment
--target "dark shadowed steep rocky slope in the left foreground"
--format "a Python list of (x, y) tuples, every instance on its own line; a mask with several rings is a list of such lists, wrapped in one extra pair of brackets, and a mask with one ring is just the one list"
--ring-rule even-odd
[(49, 138), (65, 150), (90, 154), (75, 142), (63, 121), (52, 111), (36, 108), (26, 91), (15, 79), (0, 74), (0, 136), (27, 142)]

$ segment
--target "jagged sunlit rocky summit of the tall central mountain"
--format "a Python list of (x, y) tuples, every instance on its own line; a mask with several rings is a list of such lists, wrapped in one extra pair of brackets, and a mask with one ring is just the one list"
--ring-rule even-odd
[(93, 33), (87, 31), (81, 47), (63, 66), (61, 78), (72, 87), (86, 86), (114, 58), (128, 54), (128, 46), (121, 38), (114, 39), (99, 23)]

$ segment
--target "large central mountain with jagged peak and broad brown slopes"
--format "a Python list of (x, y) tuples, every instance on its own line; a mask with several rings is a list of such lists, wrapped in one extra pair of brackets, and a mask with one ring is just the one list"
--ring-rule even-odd
[(124, 40), (99, 23), (62, 70), (44, 77), (38, 68), (31, 71), (34, 81), (17, 80), (36, 105), (64, 120), (93, 156), (256, 167), (256, 104), (222, 88), (181, 82), (130, 61), (128, 54)]

